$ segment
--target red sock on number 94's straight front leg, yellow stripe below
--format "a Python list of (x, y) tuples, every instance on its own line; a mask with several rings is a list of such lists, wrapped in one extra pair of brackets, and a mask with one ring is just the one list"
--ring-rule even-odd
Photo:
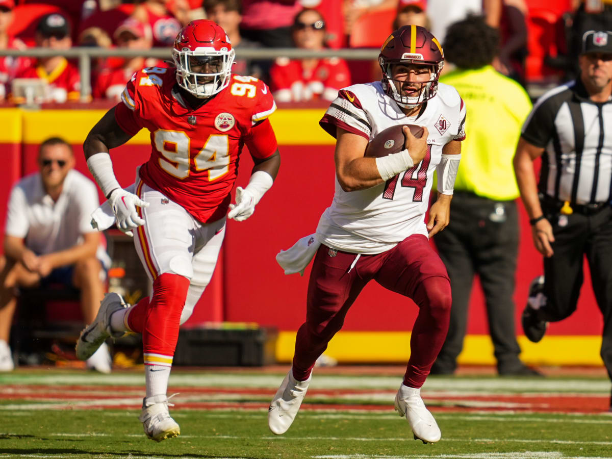
[(153, 295), (146, 308), (143, 327), (145, 364), (157, 363), (154, 357), (148, 361), (147, 354), (170, 358), (174, 355), (188, 287), (189, 279), (178, 274), (165, 273), (153, 282)]

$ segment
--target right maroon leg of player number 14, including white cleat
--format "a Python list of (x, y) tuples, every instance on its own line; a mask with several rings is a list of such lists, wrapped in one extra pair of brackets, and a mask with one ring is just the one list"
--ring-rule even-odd
[(410, 359), (403, 383), (395, 396), (395, 409), (406, 417), (415, 439), (436, 442), (441, 432), (420, 397), (449, 327), (452, 296), (446, 268), (427, 237), (414, 235), (389, 250), (376, 282), (411, 297), (419, 314), (410, 337)]

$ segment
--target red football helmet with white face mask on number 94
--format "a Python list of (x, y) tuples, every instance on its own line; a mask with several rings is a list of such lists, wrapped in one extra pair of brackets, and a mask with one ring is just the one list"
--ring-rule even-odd
[(196, 97), (211, 97), (230, 84), (235, 55), (220, 26), (207, 19), (191, 21), (174, 40), (176, 80)]

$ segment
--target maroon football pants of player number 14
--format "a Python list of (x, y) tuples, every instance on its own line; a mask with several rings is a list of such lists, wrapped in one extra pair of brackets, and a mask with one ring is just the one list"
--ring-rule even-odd
[(427, 237), (420, 234), (387, 252), (362, 255), (350, 269), (356, 256), (326, 245), (319, 247), (308, 282), (306, 322), (297, 330), (293, 376), (298, 381), (308, 379), (316, 359), (341, 329), (349, 307), (374, 279), (419, 306), (404, 384), (421, 387), (449, 329), (451, 296), (446, 267)]

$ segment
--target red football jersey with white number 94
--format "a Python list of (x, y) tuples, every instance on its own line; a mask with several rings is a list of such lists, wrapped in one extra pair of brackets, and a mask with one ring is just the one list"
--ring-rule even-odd
[[(176, 69), (136, 72), (115, 118), (129, 134), (143, 127), (151, 132), (151, 157), (140, 168), (141, 179), (200, 222), (214, 222), (230, 204), (242, 146), (261, 159), (276, 151), (271, 128), (253, 130), (263, 120), (269, 125), (276, 104), (266, 84), (252, 76), (232, 75), (227, 88), (195, 110), (177, 100), (175, 85)], [(271, 138), (255, 138), (266, 133)]]

